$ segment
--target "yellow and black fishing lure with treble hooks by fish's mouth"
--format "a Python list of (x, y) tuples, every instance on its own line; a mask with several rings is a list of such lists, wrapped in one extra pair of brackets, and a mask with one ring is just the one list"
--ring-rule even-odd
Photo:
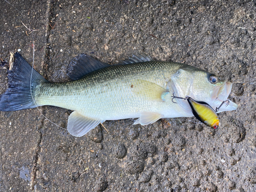
[[(173, 94), (173, 99), (185, 99), (187, 100), (188, 104), (191, 107), (191, 111), (193, 113), (193, 115), (202, 123), (206, 124), (207, 126), (217, 130), (220, 126), (220, 120), (218, 118), (217, 112), (219, 111), (219, 109), (221, 108), (221, 106), (223, 105), (223, 103), (225, 103), (226, 101), (223, 101), (221, 103), (221, 105), (219, 106), (219, 108), (216, 108), (216, 110), (212, 109), (211, 106), (204, 102), (204, 101), (196, 101), (194, 99), (192, 99), (189, 96), (186, 96), (186, 98), (183, 97), (176, 97)], [(174, 101), (173, 101), (174, 102)], [(228, 102), (228, 100), (227, 100)], [(176, 103), (176, 102), (174, 102)], [(229, 102), (226, 104), (226, 106), (229, 104)]]

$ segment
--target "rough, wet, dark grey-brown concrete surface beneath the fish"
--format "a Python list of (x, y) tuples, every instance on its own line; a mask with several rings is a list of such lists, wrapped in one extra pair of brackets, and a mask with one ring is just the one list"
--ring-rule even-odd
[[(20, 54), (53, 82), (72, 58), (110, 64), (143, 52), (234, 82), (217, 131), (188, 119), (106, 121), (76, 138), (71, 111), (0, 112), (0, 191), (256, 191), (256, 1), (1, 0), (0, 58)], [(27, 34), (26, 34), (27, 33)], [(8, 64), (0, 67), (0, 93)]]

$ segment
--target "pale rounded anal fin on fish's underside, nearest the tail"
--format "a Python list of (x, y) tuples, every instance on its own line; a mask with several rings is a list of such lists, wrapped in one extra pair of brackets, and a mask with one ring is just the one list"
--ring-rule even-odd
[(104, 120), (92, 119), (74, 111), (68, 119), (68, 131), (75, 137), (82, 137)]

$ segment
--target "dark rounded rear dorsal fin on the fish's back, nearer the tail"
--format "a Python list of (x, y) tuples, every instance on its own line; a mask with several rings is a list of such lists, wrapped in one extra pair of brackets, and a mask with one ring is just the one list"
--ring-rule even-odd
[(72, 80), (77, 80), (88, 73), (109, 66), (107, 63), (98, 61), (86, 54), (81, 54), (70, 62), (67, 74)]

